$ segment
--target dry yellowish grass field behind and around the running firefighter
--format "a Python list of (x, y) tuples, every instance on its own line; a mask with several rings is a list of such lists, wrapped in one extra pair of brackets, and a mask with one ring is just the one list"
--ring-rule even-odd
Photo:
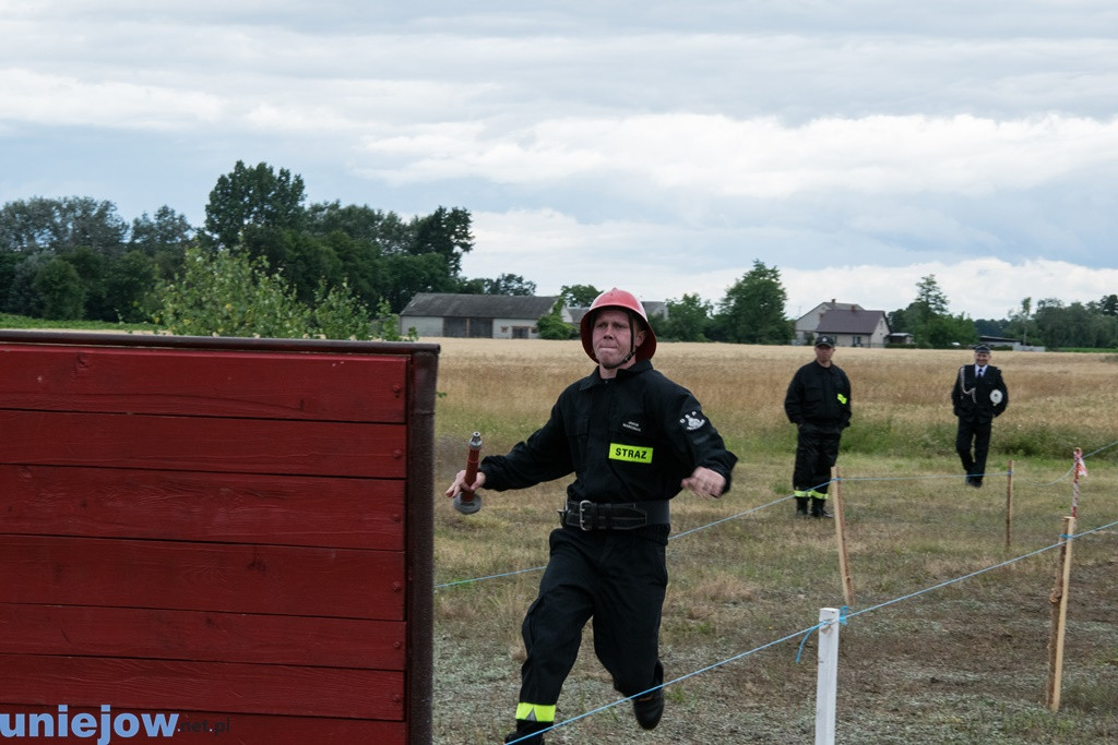
[[(424, 341), (442, 345), (439, 491), (474, 430), (484, 452), (505, 452), (591, 370), (577, 342)], [(833, 522), (792, 516), (795, 438), (783, 401), (811, 359), (803, 347), (660, 346), (655, 366), (695, 393), (738, 455), (735, 485), (720, 500), (674, 503), (660, 728), (642, 732), (631, 706), (615, 705), (587, 643), (559, 701), (558, 722), (574, 722), (549, 743), (814, 742), (817, 637), (797, 660), (800, 632), (844, 600)], [(969, 351), (839, 348), (834, 359), (854, 407), (839, 460), (854, 599), (841, 629), (837, 742), (1118, 743), (1118, 356), (995, 352), (1010, 407), (980, 490), (964, 485), (948, 400)], [(1053, 714), (1044, 701), (1059, 552), (1045, 548), (1070, 514), (1076, 447), (1089, 475)], [(483, 491), (471, 516), (435, 495), (437, 743), (498, 743), (510, 729), (520, 622), (565, 487)]]

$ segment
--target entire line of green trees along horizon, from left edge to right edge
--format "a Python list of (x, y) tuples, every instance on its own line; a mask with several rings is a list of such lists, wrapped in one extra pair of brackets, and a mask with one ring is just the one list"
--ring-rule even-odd
[[(209, 194), (206, 219), (161, 207), (131, 222), (88, 197), (35, 197), (0, 208), (0, 312), (32, 318), (155, 323), (174, 333), (397, 337), (397, 314), (417, 293), (534, 295), (520, 275), (462, 275), (474, 248), (471, 214), (439, 207), (402, 218), (340, 201), (306, 204), (302, 176), (238, 161)], [(888, 313), (916, 344), (973, 344), (979, 335), (1048, 347), (1118, 347), (1118, 296), (1064, 305), (1044, 298), (1001, 319), (948, 312), (935, 276), (907, 307)], [(586, 307), (593, 285), (565, 286)], [(653, 326), (664, 341), (787, 344), (794, 319), (779, 269), (755, 260), (717, 303), (697, 294), (666, 302)], [(569, 338), (559, 308), (540, 333)]]

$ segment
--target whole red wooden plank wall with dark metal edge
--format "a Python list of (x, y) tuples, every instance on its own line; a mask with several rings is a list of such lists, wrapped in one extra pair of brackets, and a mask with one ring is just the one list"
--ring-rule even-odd
[(0, 332), (0, 713), (429, 742), (437, 355)]

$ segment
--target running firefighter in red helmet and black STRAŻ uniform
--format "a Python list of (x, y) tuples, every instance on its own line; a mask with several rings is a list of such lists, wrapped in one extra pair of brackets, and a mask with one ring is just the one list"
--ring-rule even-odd
[(575, 476), (521, 627), (527, 658), (506, 743), (543, 743), (591, 619), (594, 650), (614, 688), (633, 699), (642, 728), (660, 723), (669, 503), (683, 489), (721, 496), (737, 462), (695, 398), (652, 367), (656, 336), (635, 296), (603, 293), (579, 331), (594, 372), (560, 393), (528, 440), (482, 459), (473, 484), (459, 471), (446, 491), (520, 489)]

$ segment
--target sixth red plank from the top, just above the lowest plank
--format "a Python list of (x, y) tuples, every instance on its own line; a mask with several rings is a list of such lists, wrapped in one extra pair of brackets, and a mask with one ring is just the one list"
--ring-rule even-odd
[(404, 674), (288, 665), (0, 655), (13, 704), (399, 720)]

